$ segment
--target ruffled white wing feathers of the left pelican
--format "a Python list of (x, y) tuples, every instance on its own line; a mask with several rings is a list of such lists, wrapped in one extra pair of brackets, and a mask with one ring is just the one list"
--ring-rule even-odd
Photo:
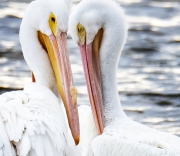
[(65, 153), (68, 127), (59, 100), (45, 86), (30, 83), (24, 91), (0, 96), (5, 131), (21, 156)]

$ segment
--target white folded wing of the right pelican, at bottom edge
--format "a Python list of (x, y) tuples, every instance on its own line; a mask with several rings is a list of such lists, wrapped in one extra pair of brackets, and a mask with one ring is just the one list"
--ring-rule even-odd
[(94, 156), (180, 156), (174, 151), (108, 135), (96, 137), (92, 150)]

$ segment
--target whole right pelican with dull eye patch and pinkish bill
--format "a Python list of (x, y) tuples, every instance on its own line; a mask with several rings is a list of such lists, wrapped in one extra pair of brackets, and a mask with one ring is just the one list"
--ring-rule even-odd
[(83, 155), (180, 155), (179, 137), (132, 121), (122, 110), (116, 70), (127, 37), (123, 10), (110, 0), (83, 0), (70, 16), (69, 32), (81, 51), (97, 127), (89, 116), (81, 135)]

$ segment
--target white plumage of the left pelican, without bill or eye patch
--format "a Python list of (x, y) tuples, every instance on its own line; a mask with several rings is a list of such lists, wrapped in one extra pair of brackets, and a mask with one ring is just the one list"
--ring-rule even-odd
[(80, 155), (61, 104), (51, 62), (37, 33), (52, 34), (48, 23), (51, 13), (56, 15), (58, 28), (67, 31), (69, 1), (65, 2), (37, 0), (25, 12), (20, 41), (37, 83), (0, 96), (0, 156)]

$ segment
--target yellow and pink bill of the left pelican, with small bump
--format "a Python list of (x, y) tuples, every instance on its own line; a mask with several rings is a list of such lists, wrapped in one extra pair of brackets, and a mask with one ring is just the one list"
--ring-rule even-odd
[(69, 122), (69, 127), (75, 143), (79, 143), (79, 117), (77, 108), (77, 90), (74, 86), (71, 65), (69, 61), (66, 37), (67, 34), (58, 31), (57, 35), (49, 37), (41, 32), (38, 32), (39, 40), (43, 47), (46, 47), (48, 52), (58, 90), (64, 103), (66, 114)]

